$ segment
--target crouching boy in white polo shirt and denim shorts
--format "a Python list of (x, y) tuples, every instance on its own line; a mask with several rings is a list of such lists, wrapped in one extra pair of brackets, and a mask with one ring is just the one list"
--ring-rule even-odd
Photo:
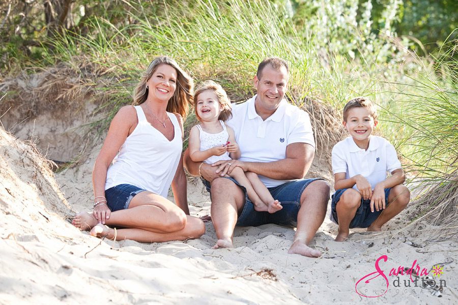
[[(331, 220), (339, 225), (336, 241), (347, 239), (349, 228), (381, 231), (410, 200), (393, 145), (371, 135), (378, 124), (374, 104), (364, 97), (351, 100), (344, 107), (343, 124), (350, 137), (332, 148), (336, 192)], [(388, 178), (387, 171), (391, 173)]]

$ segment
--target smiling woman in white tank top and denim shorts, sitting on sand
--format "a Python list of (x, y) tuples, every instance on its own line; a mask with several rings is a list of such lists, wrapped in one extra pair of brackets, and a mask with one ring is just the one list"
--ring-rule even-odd
[[(74, 217), (75, 227), (139, 242), (204, 234), (204, 223), (189, 216), (183, 170), (182, 117), (191, 103), (192, 79), (168, 57), (153, 60), (134, 90), (135, 106), (111, 121), (94, 165), (94, 210)], [(178, 206), (166, 199), (170, 185)]]

